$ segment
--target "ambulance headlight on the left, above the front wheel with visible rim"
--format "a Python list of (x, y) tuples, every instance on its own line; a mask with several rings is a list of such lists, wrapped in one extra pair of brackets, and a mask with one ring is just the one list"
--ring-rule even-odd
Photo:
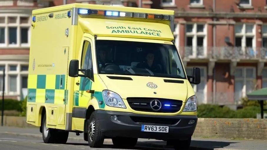
[(109, 90), (103, 90), (103, 99), (107, 106), (126, 108), (122, 98), (117, 93)]

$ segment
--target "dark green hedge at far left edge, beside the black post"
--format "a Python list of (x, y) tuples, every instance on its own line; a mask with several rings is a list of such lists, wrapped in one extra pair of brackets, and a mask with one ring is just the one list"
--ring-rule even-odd
[[(4, 110), (17, 110), (22, 111), (21, 103), (22, 101), (18, 101), (15, 99), (4, 99)], [(2, 110), (2, 100), (0, 100), (0, 110)]]

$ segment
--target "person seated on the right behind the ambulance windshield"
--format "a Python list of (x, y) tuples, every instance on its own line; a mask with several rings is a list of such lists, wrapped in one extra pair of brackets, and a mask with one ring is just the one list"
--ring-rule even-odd
[(145, 59), (145, 62), (137, 64), (136, 67), (148, 69), (156, 73), (160, 73), (162, 71), (160, 65), (155, 63), (154, 54), (152, 52), (148, 52)]

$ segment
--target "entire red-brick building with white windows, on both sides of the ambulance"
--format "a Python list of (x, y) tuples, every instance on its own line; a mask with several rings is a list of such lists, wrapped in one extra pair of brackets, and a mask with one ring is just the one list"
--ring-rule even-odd
[[(67, 0), (73, 2), (139, 4)], [(61, 4), (63, 0), (0, 0), (0, 70), (6, 67), (7, 95), (25, 95), (32, 9)], [(267, 87), (266, 0), (142, 0), (142, 7), (175, 11), (175, 44), (186, 71), (191, 74), (193, 66), (202, 71), (201, 84), (193, 85), (199, 103), (235, 107), (247, 92)]]

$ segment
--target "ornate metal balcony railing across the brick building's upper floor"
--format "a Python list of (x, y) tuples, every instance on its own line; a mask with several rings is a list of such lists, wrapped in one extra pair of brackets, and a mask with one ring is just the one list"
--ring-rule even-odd
[(183, 59), (267, 59), (265, 47), (178, 47)]

